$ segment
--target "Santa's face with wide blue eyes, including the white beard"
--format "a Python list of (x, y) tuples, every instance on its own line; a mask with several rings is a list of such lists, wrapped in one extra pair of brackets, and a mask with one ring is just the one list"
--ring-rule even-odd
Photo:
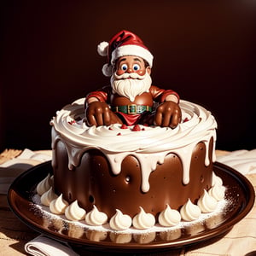
[(150, 67), (145, 67), (142, 58), (130, 55), (120, 57), (111, 77), (113, 93), (134, 102), (136, 96), (149, 91), (152, 83), (150, 72)]

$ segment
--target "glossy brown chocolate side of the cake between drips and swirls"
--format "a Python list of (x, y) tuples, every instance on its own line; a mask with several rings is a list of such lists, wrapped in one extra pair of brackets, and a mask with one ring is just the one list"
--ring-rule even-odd
[(205, 166), (207, 154), (205, 143), (198, 143), (193, 151), (189, 183), (183, 184), (183, 166), (176, 154), (167, 154), (165, 161), (157, 165), (149, 176), (150, 189), (141, 189), (142, 172), (135, 156), (128, 155), (123, 160), (121, 172), (113, 175), (107, 158), (98, 149), (86, 151), (79, 166), (68, 169), (67, 149), (59, 140), (55, 145), (54, 166), (55, 193), (63, 194), (69, 203), (78, 200), (79, 206), (87, 212), (95, 204), (99, 211), (111, 218), (116, 209), (131, 217), (143, 207), (145, 212), (156, 216), (166, 204), (179, 209), (188, 199), (196, 203), (204, 189), (212, 186), (212, 149), (210, 142), (210, 165)]

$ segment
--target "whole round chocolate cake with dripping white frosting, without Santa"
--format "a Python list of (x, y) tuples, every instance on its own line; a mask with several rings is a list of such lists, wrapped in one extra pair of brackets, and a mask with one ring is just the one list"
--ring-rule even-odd
[[(104, 223), (117, 215), (129, 217), (129, 224), (133, 219), (138, 229), (145, 227), (136, 224), (137, 214), (154, 216), (150, 227), (163, 216), (161, 212), (176, 212), (176, 218), (180, 212), (180, 218), (189, 221), (201, 212), (213, 211), (215, 201), (223, 198), (211, 192), (216, 121), (194, 103), (181, 101), (180, 107), (183, 121), (175, 129), (119, 124), (88, 127), (84, 99), (61, 109), (51, 125), (54, 195), (61, 195), (63, 209), (76, 201), (84, 214), (102, 213), (107, 216)], [(47, 183), (51, 183), (49, 178)]]

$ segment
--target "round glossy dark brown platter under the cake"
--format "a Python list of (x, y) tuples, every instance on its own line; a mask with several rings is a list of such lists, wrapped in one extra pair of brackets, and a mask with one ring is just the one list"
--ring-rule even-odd
[(211, 242), (228, 232), (253, 207), (252, 184), (240, 172), (221, 163), (213, 171), (222, 178), (225, 205), (218, 214), (208, 214), (200, 221), (146, 232), (113, 232), (86, 227), (62, 218), (49, 218), (32, 201), (36, 185), (52, 173), (51, 162), (34, 166), (17, 177), (8, 193), (9, 207), (22, 222), (39, 233), (69, 243), (74, 250), (112, 253), (150, 253)]

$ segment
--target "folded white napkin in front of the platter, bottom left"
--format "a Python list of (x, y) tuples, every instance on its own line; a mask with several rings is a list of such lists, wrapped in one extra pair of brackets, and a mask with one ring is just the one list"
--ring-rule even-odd
[(67, 243), (61, 243), (44, 235), (38, 236), (25, 245), (26, 253), (34, 256), (79, 256)]

